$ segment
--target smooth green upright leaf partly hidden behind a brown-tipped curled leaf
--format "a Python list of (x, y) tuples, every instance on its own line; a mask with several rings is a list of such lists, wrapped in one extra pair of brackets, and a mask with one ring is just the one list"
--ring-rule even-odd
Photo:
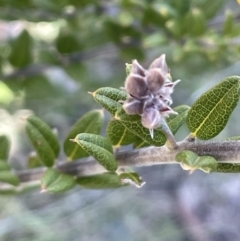
[(76, 135), (80, 133), (92, 133), (100, 134), (104, 121), (104, 115), (102, 110), (92, 110), (82, 116), (70, 129), (65, 141), (64, 152), (68, 157), (68, 160), (79, 159), (89, 156), (89, 154), (83, 150), (83, 148), (70, 139), (74, 139)]

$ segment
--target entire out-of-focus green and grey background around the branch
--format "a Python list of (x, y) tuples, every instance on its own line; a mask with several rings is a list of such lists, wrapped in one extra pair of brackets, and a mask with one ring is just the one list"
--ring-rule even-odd
[[(86, 111), (87, 93), (124, 85), (125, 63), (165, 53), (173, 107), (240, 75), (240, 5), (233, 0), (0, 0), (0, 133), (10, 164), (26, 169), (32, 148), (21, 116), (33, 112), (63, 142)], [(240, 134), (237, 107), (215, 139)], [(107, 118), (109, 116), (107, 115)], [(177, 140), (188, 135), (186, 126)], [(0, 196), (2, 241), (239, 241), (240, 176), (189, 175), (178, 165), (138, 168), (141, 188)]]

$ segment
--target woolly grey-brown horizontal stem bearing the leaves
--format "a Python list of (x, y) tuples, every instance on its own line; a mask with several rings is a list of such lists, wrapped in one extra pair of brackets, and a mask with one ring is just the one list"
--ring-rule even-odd
[[(221, 163), (239, 163), (240, 164), (240, 141), (223, 142), (192, 142), (191, 139), (178, 142), (176, 149), (169, 149), (167, 146), (146, 147), (132, 151), (116, 152), (115, 157), (119, 168), (127, 166), (151, 166), (160, 164), (178, 164), (175, 156), (179, 151), (191, 150), (196, 154), (203, 156), (212, 156)], [(93, 175), (105, 172), (106, 170), (92, 158), (75, 162), (64, 162), (56, 168), (67, 174), (75, 176)], [(21, 182), (30, 182), (39, 180), (46, 168), (37, 168), (34, 170), (18, 171), (16, 174)]]

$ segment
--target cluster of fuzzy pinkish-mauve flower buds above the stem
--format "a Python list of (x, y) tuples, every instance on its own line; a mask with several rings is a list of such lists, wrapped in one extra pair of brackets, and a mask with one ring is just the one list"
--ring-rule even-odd
[(137, 60), (133, 60), (124, 89), (128, 93), (123, 109), (129, 115), (139, 114), (142, 125), (150, 130), (161, 125), (162, 118), (177, 114), (170, 105), (174, 86), (180, 80), (171, 81), (165, 54), (155, 59), (149, 68), (144, 69)]

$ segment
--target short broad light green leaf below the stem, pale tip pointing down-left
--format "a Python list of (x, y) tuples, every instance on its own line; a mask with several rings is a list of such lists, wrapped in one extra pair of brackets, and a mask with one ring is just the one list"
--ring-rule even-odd
[(41, 179), (42, 191), (51, 193), (70, 190), (75, 184), (76, 180), (73, 176), (63, 174), (53, 168), (48, 168)]

